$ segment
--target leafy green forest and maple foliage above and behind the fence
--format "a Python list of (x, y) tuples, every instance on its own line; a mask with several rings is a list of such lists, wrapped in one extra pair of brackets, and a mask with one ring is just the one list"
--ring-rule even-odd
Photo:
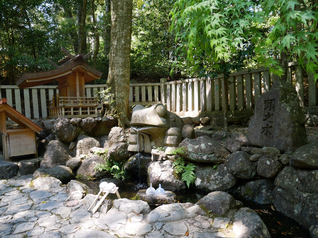
[[(104, 73), (94, 83), (106, 83), (110, 5), (110, 0), (0, 1), (0, 84), (54, 68), (47, 58), (62, 59), (61, 46), (73, 54), (93, 51), (88, 64)], [(314, 0), (134, 0), (130, 82), (248, 70), (277, 59), (273, 72), (281, 75), (282, 61), (299, 57), (313, 60), (303, 66), (315, 71), (317, 19)]]

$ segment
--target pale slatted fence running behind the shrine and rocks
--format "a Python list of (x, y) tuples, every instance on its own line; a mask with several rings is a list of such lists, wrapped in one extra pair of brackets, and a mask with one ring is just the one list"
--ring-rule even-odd
[[(308, 74), (308, 82), (304, 82), (302, 74), (297, 62), (288, 63), (287, 81), (294, 85), (301, 107), (310, 113), (318, 113), (317, 83), (312, 74)], [(195, 78), (172, 82), (161, 79), (160, 83), (130, 84), (129, 104), (163, 103), (169, 111), (180, 116), (223, 115), (223, 80), (223, 75), (219, 75), (215, 79)], [(275, 77), (271, 77), (268, 70), (260, 68), (230, 74), (228, 80), (229, 115), (253, 115), (255, 102), (270, 89)], [(85, 85), (86, 97), (97, 97), (97, 91), (105, 88), (106, 85)], [(28, 118), (48, 116), (49, 101), (57, 93), (59, 90), (56, 86), (24, 89), (0, 86), (0, 97), (6, 97), (10, 106)]]

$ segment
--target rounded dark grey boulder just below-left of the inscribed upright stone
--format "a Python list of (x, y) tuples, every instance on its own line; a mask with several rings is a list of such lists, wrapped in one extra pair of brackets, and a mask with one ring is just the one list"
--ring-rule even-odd
[(250, 155), (242, 150), (226, 157), (226, 166), (238, 178), (250, 179), (256, 174), (256, 167), (250, 161)]

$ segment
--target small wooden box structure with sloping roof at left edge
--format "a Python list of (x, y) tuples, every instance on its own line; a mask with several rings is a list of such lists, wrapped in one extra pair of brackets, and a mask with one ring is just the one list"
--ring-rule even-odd
[[(5, 117), (9, 117), (22, 128), (7, 129)], [(34, 154), (35, 158), (38, 157), (35, 133), (39, 133), (43, 129), (8, 105), (6, 98), (0, 100), (0, 130), (3, 133), (3, 157), (5, 159), (29, 154)]]

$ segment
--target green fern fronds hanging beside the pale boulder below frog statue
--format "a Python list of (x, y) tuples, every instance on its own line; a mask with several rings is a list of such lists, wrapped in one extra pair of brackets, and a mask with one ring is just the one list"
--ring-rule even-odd
[(178, 157), (173, 162), (173, 170), (176, 174), (181, 174), (181, 180), (187, 183), (188, 188), (196, 179), (196, 175), (194, 173), (196, 166), (192, 163), (185, 165), (183, 157)]

